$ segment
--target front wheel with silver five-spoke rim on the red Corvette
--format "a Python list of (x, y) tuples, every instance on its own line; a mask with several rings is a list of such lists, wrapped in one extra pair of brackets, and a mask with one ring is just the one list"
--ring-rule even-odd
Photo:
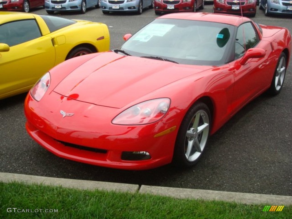
[(204, 149), (211, 130), (211, 113), (203, 102), (195, 103), (186, 113), (175, 141), (173, 164), (192, 167)]

